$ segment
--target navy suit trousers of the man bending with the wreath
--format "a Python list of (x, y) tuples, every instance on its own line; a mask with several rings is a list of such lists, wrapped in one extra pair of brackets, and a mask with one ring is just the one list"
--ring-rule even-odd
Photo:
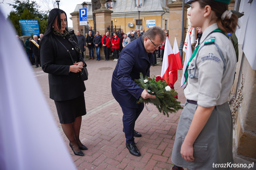
[(125, 130), (126, 143), (131, 144), (134, 143), (134, 126), (135, 121), (138, 119), (141, 114), (144, 103), (139, 104), (139, 108), (129, 108), (120, 105), (123, 111), (123, 127)]

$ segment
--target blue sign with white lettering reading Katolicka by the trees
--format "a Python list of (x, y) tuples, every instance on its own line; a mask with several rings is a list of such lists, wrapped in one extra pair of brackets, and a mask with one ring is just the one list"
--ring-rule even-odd
[(31, 36), (31, 34), (33, 34), (39, 36), (38, 20), (19, 20), (19, 22), (22, 35)]

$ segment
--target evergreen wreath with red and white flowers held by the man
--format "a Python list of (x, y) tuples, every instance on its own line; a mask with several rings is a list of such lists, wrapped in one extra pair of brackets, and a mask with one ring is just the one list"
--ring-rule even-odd
[(179, 109), (183, 109), (180, 106), (180, 102), (177, 100), (178, 93), (173, 89), (173, 86), (170, 87), (164, 79), (160, 76), (153, 76), (152, 78), (143, 77), (140, 73), (140, 79), (134, 80), (141, 88), (146, 90), (151, 90), (154, 92), (154, 95), (159, 99), (160, 105), (153, 103), (149, 98), (144, 99), (139, 98), (137, 103), (152, 103), (156, 106), (160, 113), (167, 115), (168, 113), (176, 113)]

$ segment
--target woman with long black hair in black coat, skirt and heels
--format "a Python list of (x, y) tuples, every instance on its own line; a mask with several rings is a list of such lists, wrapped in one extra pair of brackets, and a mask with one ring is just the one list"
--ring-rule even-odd
[(55, 102), (69, 146), (75, 155), (84, 156), (81, 150), (87, 148), (79, 140), (79, 132), (82, 116), (86, 114), (85, 84), (79, 77), (79, 71), (85, 62), (74, 30), (67, 30), (67, 15), (63, 10), (55, 8), (50, 11), (47, 29), (39, 47), (42, 69), (48, 73), (50, 98)]

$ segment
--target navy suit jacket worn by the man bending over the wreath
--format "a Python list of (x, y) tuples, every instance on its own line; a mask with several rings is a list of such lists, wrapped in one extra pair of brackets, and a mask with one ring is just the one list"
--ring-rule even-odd
[(112, 76), (112, 94), (120, 105), (138, 108), (136, 101), (140, 97), (143, 88), (140, 88), (134, 79), (139, 79), (139, 73), (150, 76), (150, 66), (153, 55), (150, 58), (146, 52), (141, 38), (129, 43), (121, 51), (116, 68)]

